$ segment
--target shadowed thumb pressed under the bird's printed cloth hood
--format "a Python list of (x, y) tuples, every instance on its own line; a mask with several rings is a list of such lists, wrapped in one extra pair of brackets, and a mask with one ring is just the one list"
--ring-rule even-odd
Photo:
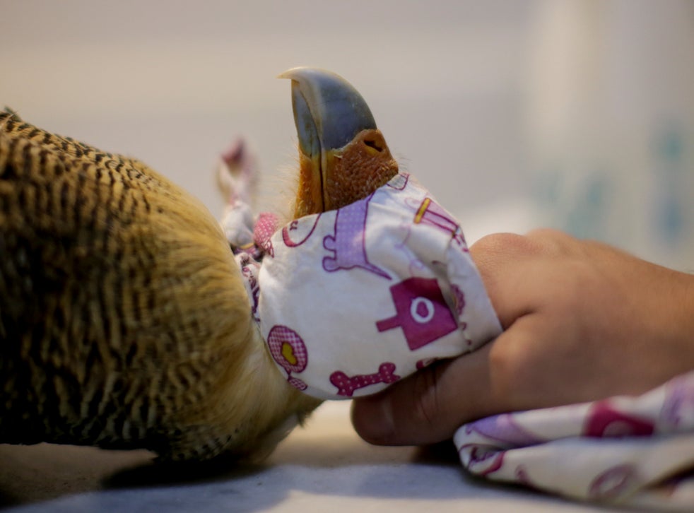
[(493, 400), (488, 361), (492, 346), (430, 365), (380, 394), (355, 399), (355, 430), (372, 444), (433, 444), (449, 440), (470, 420), (496, 413), (500, 405)]

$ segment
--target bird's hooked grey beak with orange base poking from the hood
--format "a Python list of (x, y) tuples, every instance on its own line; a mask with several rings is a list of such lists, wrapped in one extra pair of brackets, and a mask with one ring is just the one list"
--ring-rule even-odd
[(316, 68), (290, 69), (279, 78), (292, 81), (299, 138), (295, 218), (351, 204), (397, 174), (368, 105), (344, 78)]

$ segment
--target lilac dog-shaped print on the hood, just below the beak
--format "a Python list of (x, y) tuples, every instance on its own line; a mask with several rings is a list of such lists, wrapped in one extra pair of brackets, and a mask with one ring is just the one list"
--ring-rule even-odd
[(339, 208), (335, 216), (335, 235), (326, 235), (323, 247), (333, 253), (324, 257), (323, 269), (328, 272), (359, 267), (390, 279), (388, 273), (372, 265), (366, 256), (366, 218), (373, 194)]

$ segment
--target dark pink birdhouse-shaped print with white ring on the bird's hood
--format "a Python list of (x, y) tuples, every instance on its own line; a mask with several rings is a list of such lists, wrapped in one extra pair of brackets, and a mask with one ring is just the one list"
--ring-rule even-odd
[(376, 323), (378, 331), (401, 328), (416, 350), (458, 328), (435, 278), (408, 278), (390, 288), (396, 314)]

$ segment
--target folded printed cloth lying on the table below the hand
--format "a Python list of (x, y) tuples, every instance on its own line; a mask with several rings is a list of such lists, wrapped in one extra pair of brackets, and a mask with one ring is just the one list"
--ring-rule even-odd
[(454, 436), (471, 473), (580, 500), (694, 511), (694, 372), (636, 397), (505, 413)]

